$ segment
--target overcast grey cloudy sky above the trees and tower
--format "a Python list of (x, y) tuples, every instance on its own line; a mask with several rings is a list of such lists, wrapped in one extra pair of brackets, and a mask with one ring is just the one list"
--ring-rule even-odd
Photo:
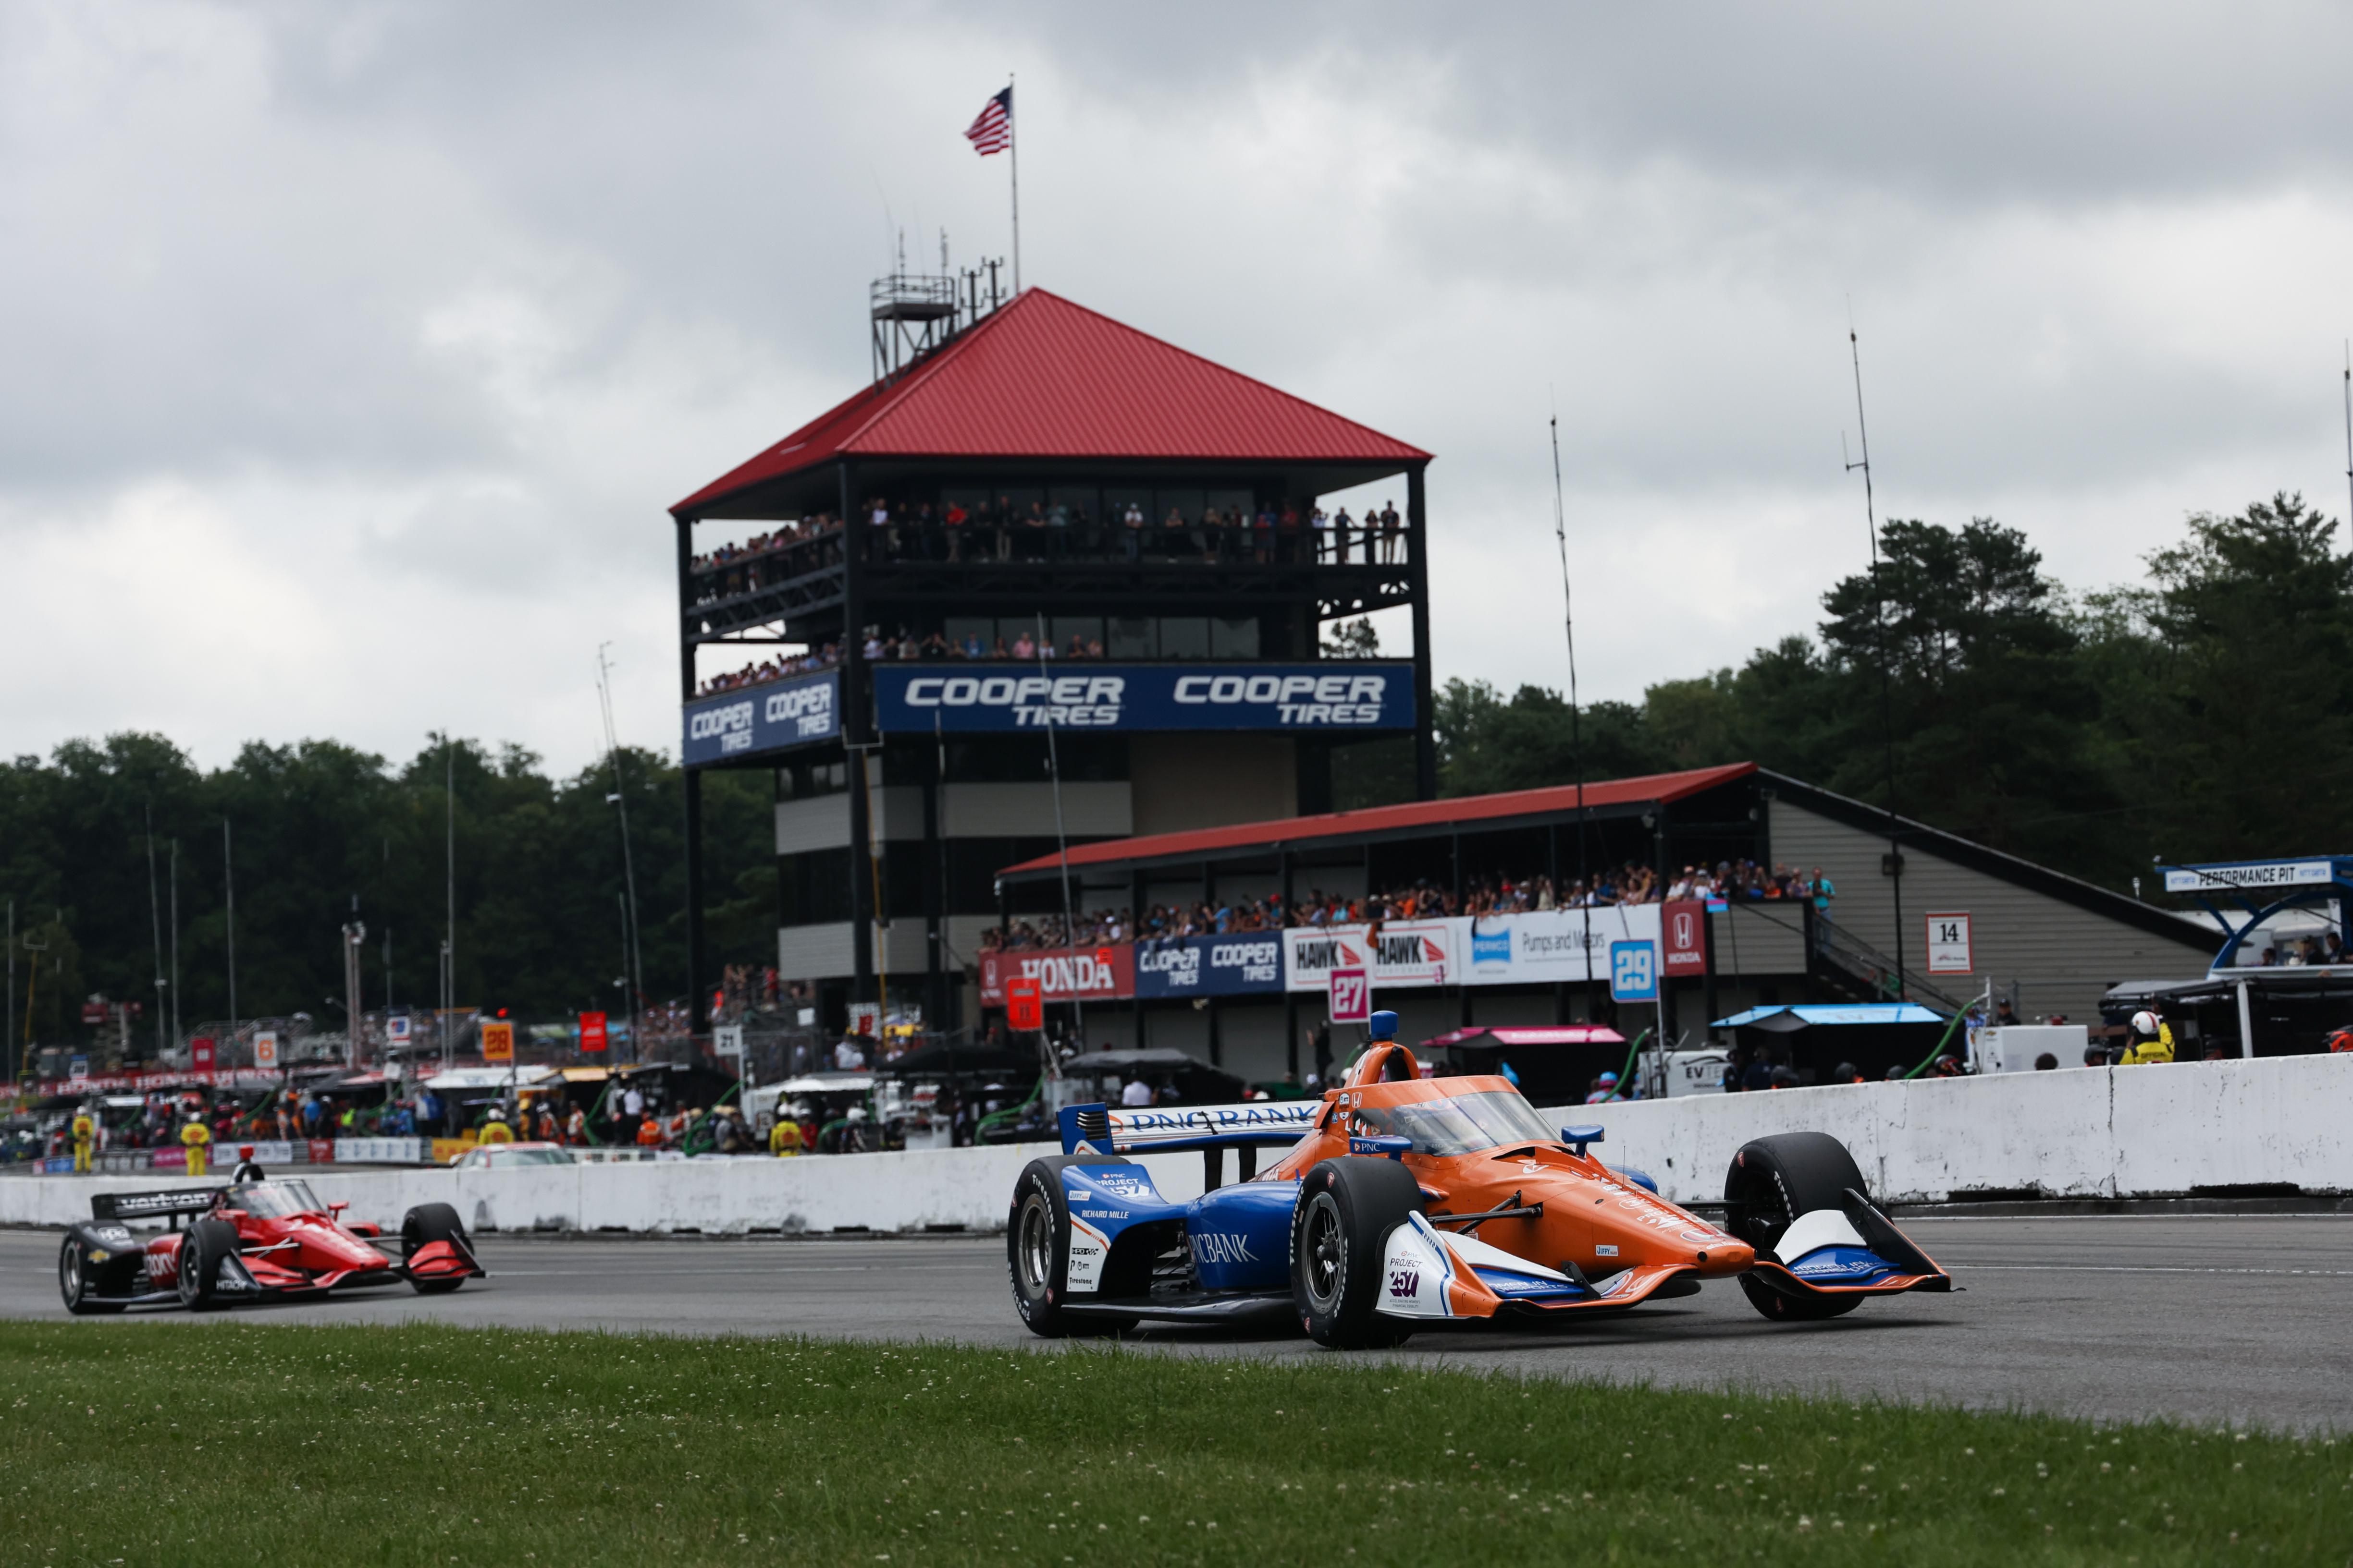
[[(1129, 14), (1132, 12), (1132, 14)], [(0, 7), (0, 750), (678, 745), (664, 508), (866, 378), (889, 254), (1438, 454), (1438, 672), (1809, 632), (1885, 515), (2075, 588), (2344, 515), (2353, 12)], [(1400, 496), (1402, 498), (1402, 496)], [(1400, 628), (1402, 632), (1402, 628)]]

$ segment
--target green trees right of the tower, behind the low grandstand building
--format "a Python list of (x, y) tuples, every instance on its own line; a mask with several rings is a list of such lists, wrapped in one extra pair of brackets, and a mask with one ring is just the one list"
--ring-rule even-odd
[[(1588, 703), (1586, 778), (1758, 762), (2129, 889), (2153, 858), (2353, 846), (2353, 555), (2301, 496), (2195, 515), (2146, 578), (2071, 595), (2019, 529), (1887, 522), (1814, 637)], [(1572, 778), (1558, 689), (1447, 682), (1442, 790)], [(1395, 790), (1391, 780), (1386, 785)]]

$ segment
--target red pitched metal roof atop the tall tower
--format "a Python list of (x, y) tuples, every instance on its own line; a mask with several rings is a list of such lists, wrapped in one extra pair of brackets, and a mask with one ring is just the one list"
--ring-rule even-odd
[(1431, 454), (1045, 289), (819, 414), (673, 512), (838, 456), (1421, 463)]

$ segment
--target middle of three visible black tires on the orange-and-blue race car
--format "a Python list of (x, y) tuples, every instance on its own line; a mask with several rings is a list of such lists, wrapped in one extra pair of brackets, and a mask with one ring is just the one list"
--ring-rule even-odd
[(1412, 1324), (1384, 1319), (1388, 1232), (1421, 1211), (1421, 1182), (1395, 1159), (1327, 1159), (1299, 1182), (1292, 1208), (1292, 1305), (1327, 1349), (1402, 1345)]

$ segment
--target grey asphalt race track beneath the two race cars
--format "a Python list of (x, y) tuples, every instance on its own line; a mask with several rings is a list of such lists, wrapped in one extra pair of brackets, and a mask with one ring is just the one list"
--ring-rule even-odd
[[(1927, 1399), (2094, 1418), (2353, 1427), (2353, 1218), (1915, 1218), (1965, 1288), (1774, 1326), (1732, 1281), (1558, 1333), (1424, 1333), (1393, 1352), (1513, 1375)], [(56, 1232), (0, 1232), (0, 1314), (66, 1321)], [(939, 1239), (499, 1239), (489, 1279), (424, 1300), (365, 1291), (209, 1321), (814, 1333), (1042, 1347), (1014, 1319), (1005, 1244)], [(151, 1314), (94, 1319), (136, 1333)], [(179, 1319), (176, 1312), (160, 1316)], [(1174, 1354), (1325, 1356), (1306, 1340), (1146, 1328)]]

